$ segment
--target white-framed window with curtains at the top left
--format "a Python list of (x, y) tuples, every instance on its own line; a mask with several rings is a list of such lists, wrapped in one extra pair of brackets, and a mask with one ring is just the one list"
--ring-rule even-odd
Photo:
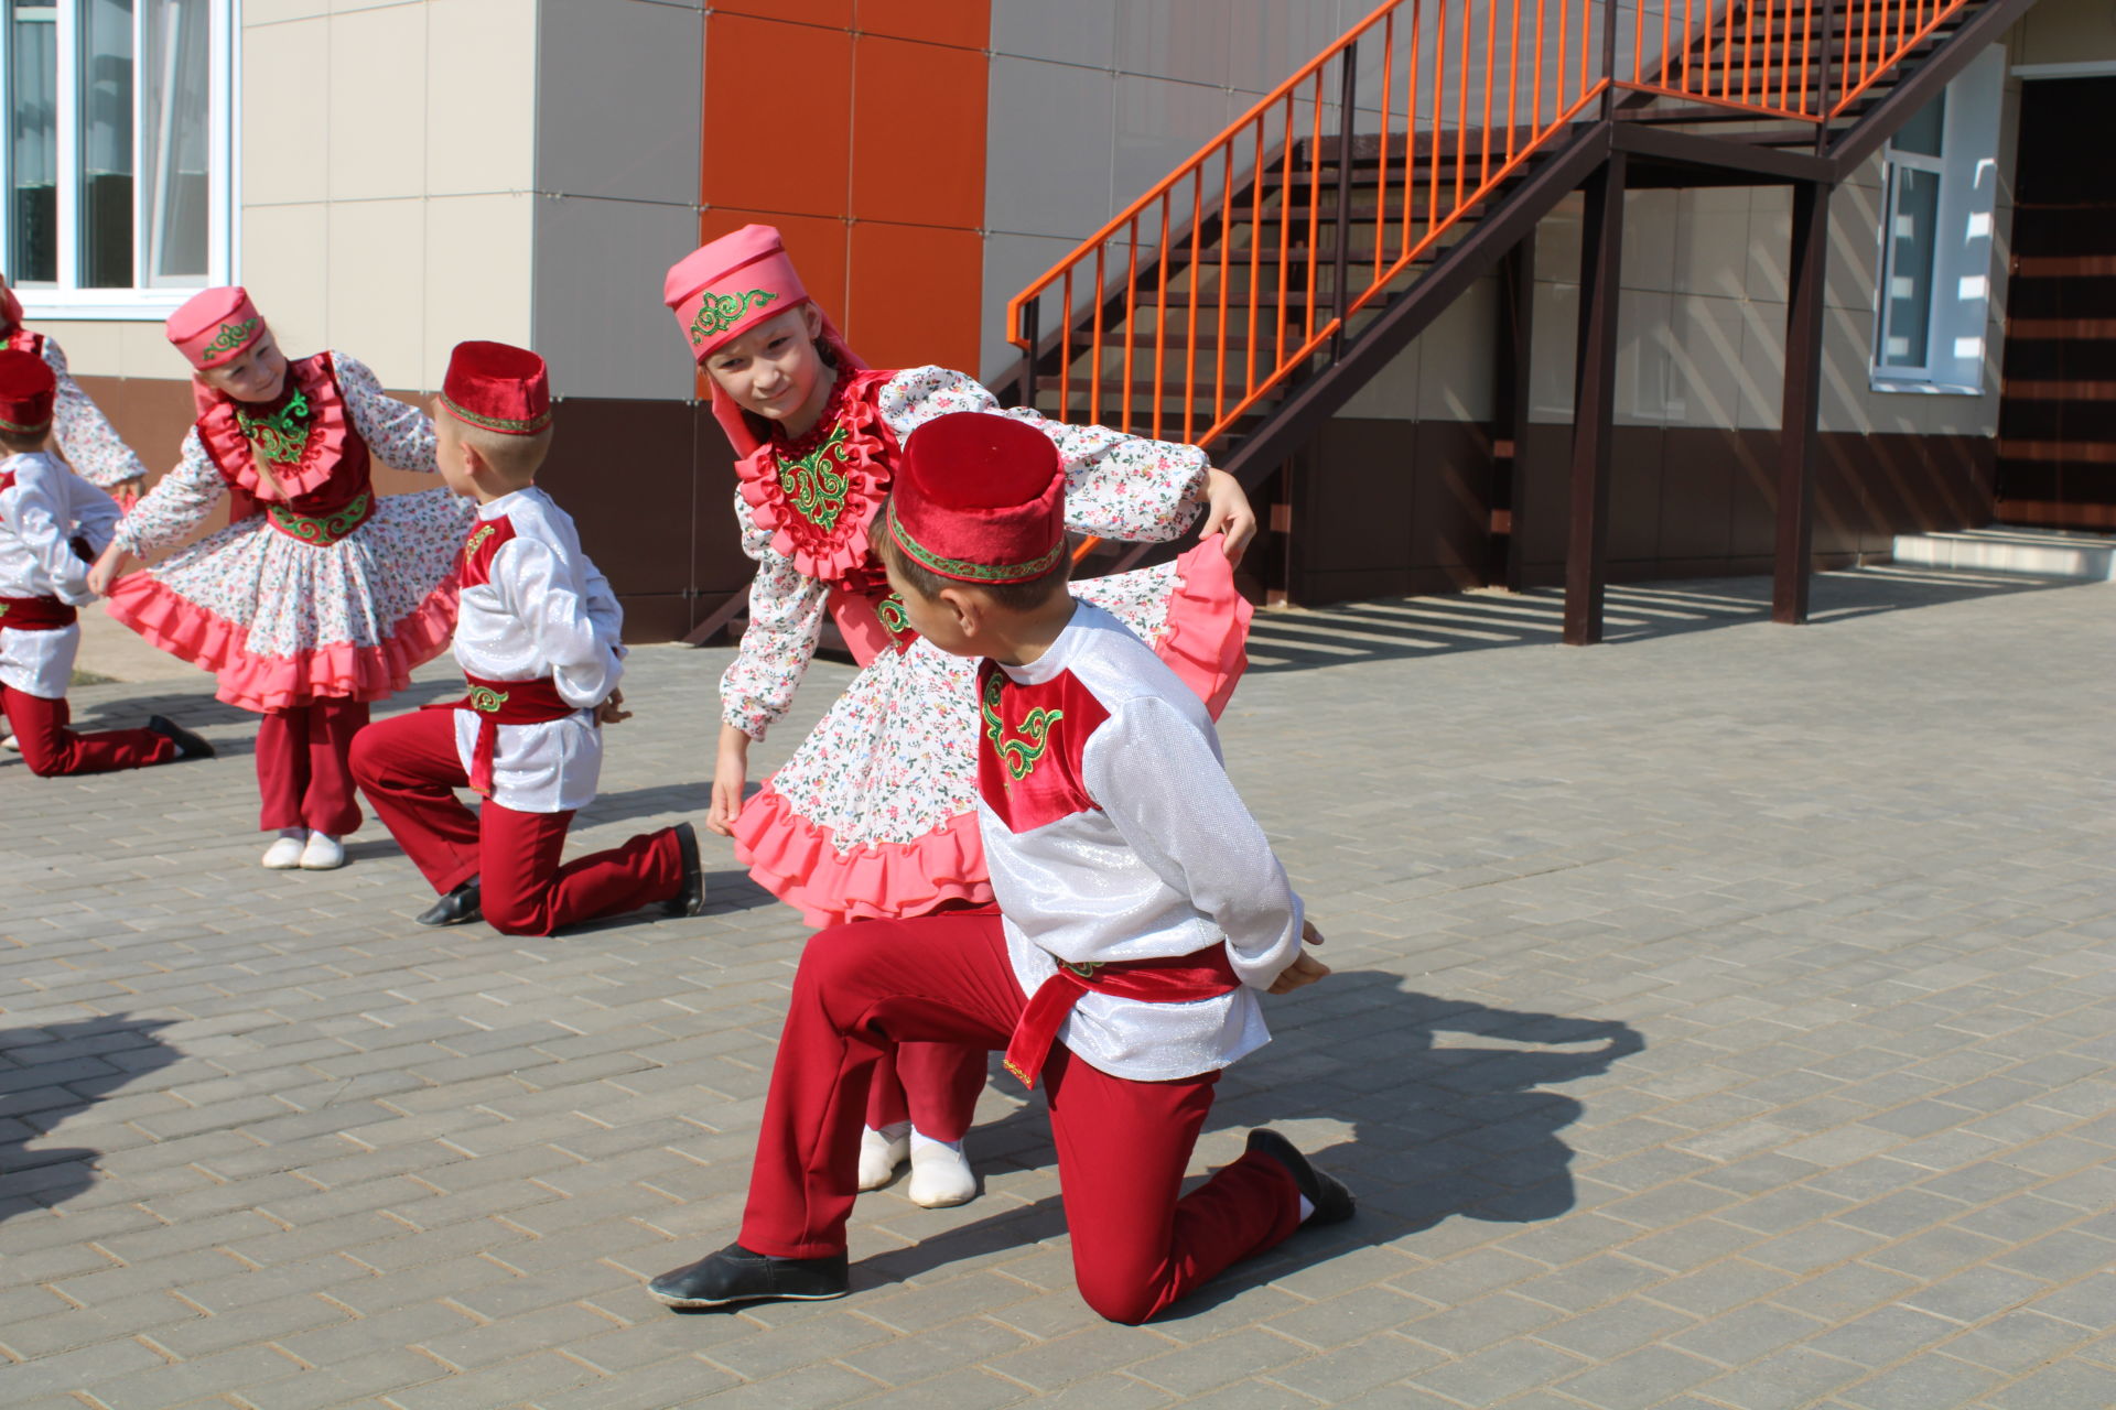
[(0, 271), (38, 317), (159, 317), (235, 268), (235, 0), (0, 0)]

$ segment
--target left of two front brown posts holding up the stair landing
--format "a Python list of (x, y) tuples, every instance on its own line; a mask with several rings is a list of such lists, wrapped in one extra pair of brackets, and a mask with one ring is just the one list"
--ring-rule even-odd
[(1566, 645), (1602, 641), (1608, 581), (1608, 450), (1617, 429), (1617, 296), (1623, 277), (1625, 154), (1587, 178), (1581, 222), (1581, 340), (1572, 368), (1572, 524), (1566, 543)]

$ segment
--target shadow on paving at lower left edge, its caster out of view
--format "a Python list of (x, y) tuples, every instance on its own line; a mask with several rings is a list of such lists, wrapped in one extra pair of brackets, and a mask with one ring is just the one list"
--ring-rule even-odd
[(169, 1023), (110, 1015), (0, 1029), (0, 1114), (8, 1118), (0, 1123), (0, 1222), (63, 1205), (95, 1184), (99, 1150), (32, 1142), (142, 1072), (174, 1063), (178, 1051), (157, 1038)]

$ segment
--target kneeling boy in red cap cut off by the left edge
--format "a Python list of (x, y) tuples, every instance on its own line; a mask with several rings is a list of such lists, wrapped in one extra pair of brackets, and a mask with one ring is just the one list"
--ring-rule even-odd
[(42, 357), (0, 351), (0, 708), (38, 776), (209, 759), (212, 744), (161, 715), (146, 729), (68, 729), (76, 615), (95, 600), (89, 560), (110, 541), (118, 507), (47, 450), (57, 393)]

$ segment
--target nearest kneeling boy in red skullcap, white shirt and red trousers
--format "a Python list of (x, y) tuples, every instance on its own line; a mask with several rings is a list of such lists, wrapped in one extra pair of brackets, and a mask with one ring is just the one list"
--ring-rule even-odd
[(808, 941), (772, 1068), (741, 1241), (650, 1292), (700, 1309), (846, 1292), (861, 1112), (895, 1042), (1003, 1049), (1041, 1078), (1073, 1273), (1145, 1321), (1352, 1196), (1276, 1131), (1181, 1194), (1221, 1068), (1267, 1040), (1257, 991), (1329, 970), (1242, 808), (1204, 702), (1066, 592), (1050, 438), (956, 412), (904, 444), (876, 516), (889, 583), (978, 668), (978, 824), (997, 909), (834, 926)]

